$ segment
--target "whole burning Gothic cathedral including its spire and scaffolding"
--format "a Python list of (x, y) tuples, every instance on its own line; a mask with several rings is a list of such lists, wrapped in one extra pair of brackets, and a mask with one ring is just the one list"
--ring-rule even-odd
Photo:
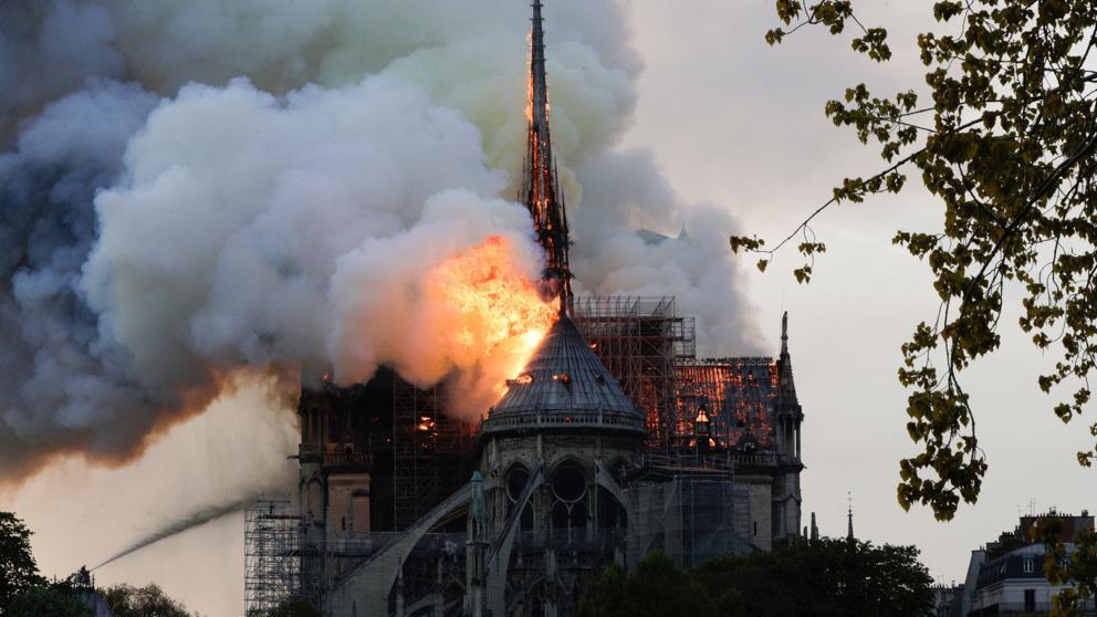
[(533, 3), (521, 200), (558, 316), (479, 422), (459, 387), (382, 369), (303, 388), (297, 499), (247, 515), (249, 615), (574, 613), (584, 581), (661, 551), (690, 566), (800, 535), (801, 423), (780, 355), (698, 358), (673, 297), (574, 296)]

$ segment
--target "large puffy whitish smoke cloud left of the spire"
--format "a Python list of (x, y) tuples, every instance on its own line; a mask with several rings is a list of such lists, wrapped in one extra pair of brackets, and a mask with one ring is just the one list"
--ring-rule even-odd
[[(510, 231), (530, 227), (519, 206), (485, 203), (504, 179), (483, 164), (477, 129), (385, 77), (284, 102), (243, 81), (188, 86), (125, 160), (125, 185), (96, 199), (102, 232), (84, 285), (142, 383), (161, 387), (208, 365), (331, 366), (328, 333), (348, 316), (330, 296), (399, 297), (501, 218)], [(449, 189), (461, 189), (463, 211), (425, 217)], [(409, 229), (403, 245), (370, 248)], [(352, 251), (377, 272), (344, 292), (332, 279)], [(363, 378), (375, 363), (336, 368)]]

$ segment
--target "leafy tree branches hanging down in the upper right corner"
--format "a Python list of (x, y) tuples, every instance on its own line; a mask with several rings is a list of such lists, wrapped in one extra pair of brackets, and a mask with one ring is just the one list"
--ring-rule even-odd
[[(825, 105), (839, 127), (879, 146), (884, 165), (846, 178), (830, 198), (772, 248), (733, 237), (734, 251), (760, 255), (764, 270), (796, 243), (794, 270), (811, 280), (826, 251), (812, 221), (840, 202), (897, 194), (915, 175), (942, 206), (937, 229), (896, 233), (921, 260), (940, 297), (934, 315), (902, 345), (899, 381), (909, 389), (907, 431), (921, 451), (900, 461), (899, 503), (922, 503), (951, 519), (974, 502), (986, 461), (961, 375), (999, 349), (1003, 305), (1017, 302), (1020, 327), (1049, 358), (1036, 379), (1055, 390), (1064, 422), (1090, 399), (1097, 366), (1097, 3), (1091, 0), (947, 0), (927, 3), (937, 25), (918, 35), (924, 85), (885, 96), (864, 83)], [(776, 44), (822, 27), (854, 31), (852, 46), (888, 62), (885, 28), (858, 19), (849, 0), (777, 0)], [(928, 90), (928, 100), (918, 91)], [(1059, 387), (1068, 388), (1059, 393)], [(1097, 423), (1089, 427), (1097, 437)], [(1097, 450), (1078, 452), (1090, 466)]]

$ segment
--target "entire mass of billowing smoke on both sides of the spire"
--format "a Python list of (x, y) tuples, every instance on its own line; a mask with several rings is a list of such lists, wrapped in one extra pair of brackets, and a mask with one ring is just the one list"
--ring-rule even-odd
[[(527, 12), (0, 6), (0, 82), (18, 84), (0, 91), (0, 478), (59, 453), (125, 460), (237, 372), (497, 379), (484, 352), (521, 332), (442, 283), (453, 260), (490, 258), (473, 275), (521, 295), (540, 269), (512, 201)], [(675, 294), (702, 351), (755, 351), (734, 221), (681, 203), (649, 154), (613, 149), (640, 70), (627, 15), (552, 0), (546, 17), (579, 289)]]

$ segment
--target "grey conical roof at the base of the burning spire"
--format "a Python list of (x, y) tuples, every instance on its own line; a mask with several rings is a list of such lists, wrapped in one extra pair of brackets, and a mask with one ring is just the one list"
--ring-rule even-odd
[(644, 431), (644, 415), (561, 315), (506, 394), (491, 409), (484, 432), (506, 428), (610, 425)]

